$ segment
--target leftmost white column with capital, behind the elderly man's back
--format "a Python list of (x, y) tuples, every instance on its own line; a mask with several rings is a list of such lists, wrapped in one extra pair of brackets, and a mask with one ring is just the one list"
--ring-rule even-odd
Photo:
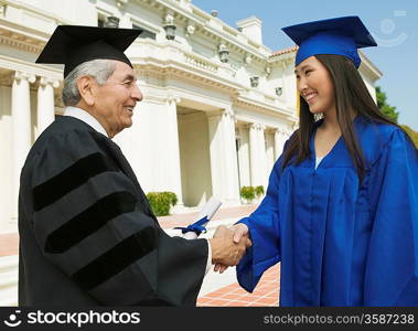
[(12, 85), (12, 146), (13, 146), (13, 212), (12, 222), (18, 218), (19, 180), (22, 167), (31, 148), (31, 102), (29, 84), (34, 75), (15, 72)]

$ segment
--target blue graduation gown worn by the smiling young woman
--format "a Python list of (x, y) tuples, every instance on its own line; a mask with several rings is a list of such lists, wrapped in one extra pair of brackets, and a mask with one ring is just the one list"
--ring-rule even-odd
[(280, 306), (418, 306), (418, 157), (405, 134), (357, 116), (363, 183), (344, 140), (315, 170), (311, 157), (281, 171), (242, 223), (253, 247), (237, 266), (253, 291), (281, 263)]

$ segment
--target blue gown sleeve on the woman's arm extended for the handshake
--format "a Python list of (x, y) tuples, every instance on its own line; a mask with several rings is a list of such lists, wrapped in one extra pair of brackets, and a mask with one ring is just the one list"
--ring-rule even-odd
[(276, 162), (269, 178), (265, 199), (249, 216), (240, 220), (248, 226), (253, 246), (236, 267), (239, 285), (253, 292), (262, 273), (280, 260), (278, 193), (281, 158)]

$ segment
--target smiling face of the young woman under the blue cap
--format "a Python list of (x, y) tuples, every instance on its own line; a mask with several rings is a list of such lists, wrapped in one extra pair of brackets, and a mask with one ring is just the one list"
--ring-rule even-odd
[(310, 56), (294, 70), (297, 87), (312, 114), (335, 110), (334, 86), (325, 66)]

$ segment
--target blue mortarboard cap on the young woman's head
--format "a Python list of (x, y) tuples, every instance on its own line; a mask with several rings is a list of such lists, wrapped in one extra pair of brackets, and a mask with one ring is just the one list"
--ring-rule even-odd
[(358, 68), (357, 49), (377, 46), (358, 17), (308, 22), (282, 29), (299, 45), (296, 65), (317, 54), (343, 55)]

